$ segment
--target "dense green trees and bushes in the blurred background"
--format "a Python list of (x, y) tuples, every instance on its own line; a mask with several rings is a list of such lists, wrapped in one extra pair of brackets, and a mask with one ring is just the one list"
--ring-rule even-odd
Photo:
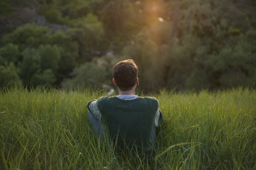
[[(12, 13), (26, 13), (7, 2), (6, 20)], [(143, 91), (256, 87), (254, 0), (34, 2), (32, 7), (41, 4), (37, 14), (59, 24), (59, 30), (50, 24), (16, 29), (1, 24), (8, 30), (1, 37), (1, 69), (12, 62), (25, 86), (102, 88), (111, 85), (103, 72), (112, 70), (113, 61), (134, 59)], [(92, 69), (93, 74), (85, 74)]]

